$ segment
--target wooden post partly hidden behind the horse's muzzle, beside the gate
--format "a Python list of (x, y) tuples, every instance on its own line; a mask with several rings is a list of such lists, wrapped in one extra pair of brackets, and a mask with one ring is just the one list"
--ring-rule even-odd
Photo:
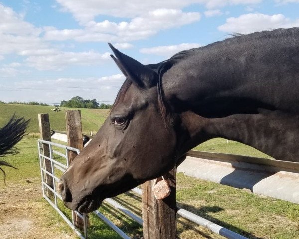
[[(78, 148), (80, 151), (83, 149), (83, 135), (82, 135), (82, 123), (81, 123), (81, 111), (80, 110), (67, 110), (65, 111), (66, 132), (68, 146)], [(73, 151), (69, 151), (69, 163), (71, 163), (77, 154)], [(73, 212), (74, 225), (84, 230), (83, 220)], [(87, 226), (89, 226), (89, 218), (87, 215)]]

